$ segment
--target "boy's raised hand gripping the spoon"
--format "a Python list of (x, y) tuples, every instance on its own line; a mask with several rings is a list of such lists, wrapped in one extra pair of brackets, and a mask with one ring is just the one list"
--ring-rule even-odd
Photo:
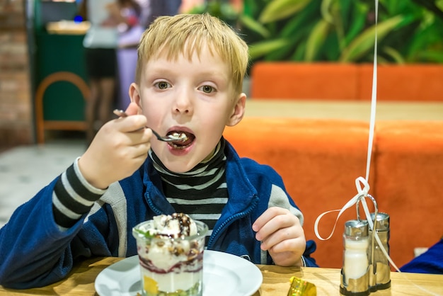
[(148, 156), (152, 132), (144, 128), (146, 118), (137, 110), (131, 103), (126, 110), (130, 116), (105, 123), (79, 159), (80, 171), (92, 186), (108, 188), (131, 176)]

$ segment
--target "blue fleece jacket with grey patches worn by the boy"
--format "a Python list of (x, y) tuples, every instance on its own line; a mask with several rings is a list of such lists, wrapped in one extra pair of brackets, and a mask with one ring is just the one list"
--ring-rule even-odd
[[(226, 183), (229, 200), (214, 226), (207, 249), (272, 264), (255, 239), (253, 222), (272, 206), (285, 207), (303, 222), (287, 194), (282, 178), (270, 167), (238, 157), (226, 142)], [(58, 177), (60, 178), (60, 177)], [(60, 231), (52, 214), (52, 191), (57, 178), (28, 203), (18, 207), (0, 229), (0, 285), (25, 289), (49, 285), (64, 278), (81, 257), (137, 254), (132, 227), (155, 215), (171, 214), (162, 193), (161, 178), (146, 159), (129, 178), (113, 183), (74, 227)], [(304, 261), (316, 266), (307, 241)]]

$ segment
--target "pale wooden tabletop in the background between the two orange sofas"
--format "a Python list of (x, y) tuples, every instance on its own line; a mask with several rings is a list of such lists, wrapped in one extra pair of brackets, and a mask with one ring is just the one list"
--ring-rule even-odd
[[(254, 99), (246, 101), (246, 116), (323, 118), (368, 121), (370, 101)], [(443, 102), (379, 101), (376, 120), (443, 120)]]

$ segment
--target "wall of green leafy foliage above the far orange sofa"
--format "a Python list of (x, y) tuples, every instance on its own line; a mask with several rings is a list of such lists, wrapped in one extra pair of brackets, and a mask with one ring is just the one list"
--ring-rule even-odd
[[(443, 18), (430, 5), (441, 11), (443, 0), (379, 0), (379, 62), (442, 62)], [(243, 7), (250, 19), (239, 23), (253, 59), (372, 60), (374, 1), (243, 0)], [(327, 32), (319, 25), (324, 16)]]

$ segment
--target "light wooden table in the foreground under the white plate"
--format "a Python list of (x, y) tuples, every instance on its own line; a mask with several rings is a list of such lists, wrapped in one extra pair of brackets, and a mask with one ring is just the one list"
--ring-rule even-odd
[[(68, 278), (58, 283), (29, 290), (10, 290), (0, 286), (0, 295), (97, 295), (94, 281), (98, 273), (120, 260), (122, 258), (88, 259), (76, 266)], [(289, 278), (292, 276), (315, 284), (317, 295), (340, 295), (340, 269), (284, 268), (265, 265), (258, 265), (258, 268), (263, 273), (263, 284), (253, 296), (286, 296), (289, 290)], [(391, 273), (391, 281), (390, 289), (377, 291), (371, 295), (443, 295), (443, 275)]]

